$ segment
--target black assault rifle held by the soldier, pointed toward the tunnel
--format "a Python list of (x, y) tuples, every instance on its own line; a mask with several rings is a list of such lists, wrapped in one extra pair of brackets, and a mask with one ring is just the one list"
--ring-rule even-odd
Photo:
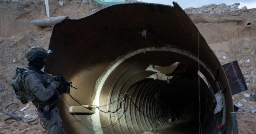
[(62, 94), (62, 93), (69, 94), (70, 88), (77, 89), (76, 87), (72, 86), (72, 82), (67, 82), (61, 74), (58, 74), (58, 76), (53, 76), (51, 74), (48, 74), (45, 71), (44, 72), (44, 80), (48, 84), (52, 83), (53, 80), (60, 82), (60, 86), (58, 88), (58, 92), (60, 94)]

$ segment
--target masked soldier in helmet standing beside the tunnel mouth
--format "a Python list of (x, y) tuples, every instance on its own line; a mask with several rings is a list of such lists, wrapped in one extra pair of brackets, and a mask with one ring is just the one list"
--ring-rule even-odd
[[(41, 69), (46, 63), (48, 53), (44, 48), (32, 47), (27, 50), (25, 57), (28, 59), (28, 70), (23, 78), (23, 89), (26, 94), (22, 94), (25, 99), (32, 101), (37, 108), (40, 122), (46, 128), (47, 134), (61, 134), (62, 120), (59, 116), (56, 102), (58, 100), (57, 88), (60, 83), (53, 80), (50, 84), (44, 80), (44, 72)], [(15, 90), (15, 89), (14, 89)], [(16, 94), (17, 97), (17, 94)]]

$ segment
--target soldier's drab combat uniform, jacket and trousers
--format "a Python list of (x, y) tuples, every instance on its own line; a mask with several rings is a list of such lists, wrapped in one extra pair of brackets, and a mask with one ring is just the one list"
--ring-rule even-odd
[[(35, 95), (35, 100), (33, 104), (38, 108), (37, 114), (42, 122), (42, 125), (46, 128), (47, 134), (61, 134), (62, 129), (62, 120), (59, 115), (58, 108), (56, 106), (56, 102), (54, 104), (50, 104), (47, 102), (49, 99), (55, 99), (54, 93), (56, 92), (56, 88), (59, 86), (59, 82), (53, 81), (50, 85), (46, 86), (44, 83), (42, 74), (34, 70), (30, 70), (24, 80), (24, 86), (27, 87), (30, 91), (32, 91)], [(54, 108), (49, 111), (50, 117), (45, 117), (45, 113), (43, 108), (40, 110), (40, 106), (52, 105)], [(47, 115), (46, 115), (47, 116)]]

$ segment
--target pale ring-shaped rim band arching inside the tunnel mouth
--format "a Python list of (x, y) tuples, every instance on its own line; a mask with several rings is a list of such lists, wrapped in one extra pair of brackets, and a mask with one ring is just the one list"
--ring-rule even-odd
[[(176, 52), (178, 54), (182, 54), (184, 56), (187, 56), (189, 58), (191, 58), (192, 60), (195, 60), (196, 62), (199, 61), (199, 64), (201, 66), (203, 66), (207, 72), (210, 74), (210, 76), (213, 78), (213, 80), (216, 80), (214, 77), (213, 72), (210, 70), (210, 68), (208, 68), (208, 66), (206, 66), (206, 64), (204, 64), (204, 62), (202, 62), (200, 59), (198, 59), (198, 57), (194, 56), (193, 54), (191, 54), (190, 52), (186, 51), (186, 50), (181, 50), (178, 48), (172, 48), (172, 47), (160, 47), (160, 48), (155, 48), (155, 47), (150, 47), (150, 48), (140, 48), (138, 50), (134, 50), (131, 52), (128, 52), (126, 54), (124, 54), (123, 56), (118, 57), (116, 60), (114, 60), (113, 62), (110, 63), (110, 65), (106, 68), (106, 70), (104, 71), (104, 73), (98, 78), (98, 80), (96, 81), (96, 84), (94, 86), (94, 90), (96, 90), (96, 95), (94, 97), (93, 100), (93, 105), (99, 106), (99, 100), (100, 100), (100, 92), (103, 88), (104, 83), (106, 82), (108, 76), (110, 76), (110, 74), (114, 71), (114, 69), (116, 67), (118, 67), (122, 62), (124, 62), (125, 60), (127, 60), (128, 58), (131, 58), (132, 56), (135, 56), (137, 54), (141, 54), (141, 53), (146, 53), (146, 52), (151, 52), (151, 51), (166, 51), (166, 52)], [(224, 94), (222, 93), (222, 96), (224, 96)], [(226, 106), (226, 100), (225, 97), (223, 97), (223, 101), (222, 103)], [(225, 124), (226, 121), (226, 107), (223, 107), (222, 110), (223, 114), (222, 114), (222, 125)], [(100, 114), (99, 114), (99, 110), (96, 109), (95, 110), (95, 114), (92, 115), (92, 124), (98, 127), (102, 127), (101, 126), (101, 122), (100, 122)], [(93, 129), (95, 131), (98, 131), (98, 128), (93, 127)], [(96, 134), (103, 134), (103, 131), (100, 130), (98, 132), (96, 132)]]

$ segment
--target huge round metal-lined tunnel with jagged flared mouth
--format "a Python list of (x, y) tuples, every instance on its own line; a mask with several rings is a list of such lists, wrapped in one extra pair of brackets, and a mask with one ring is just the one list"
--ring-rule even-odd
[[(78, 88), (58, 102), (65, 133), (141, 134), (162, 126), (174, 134), (232, 132), (224, 70), (173, 4), (114, 5), (54, 26), (45, 70)], [(70, 112), (81, 105), (95, 113)]]

